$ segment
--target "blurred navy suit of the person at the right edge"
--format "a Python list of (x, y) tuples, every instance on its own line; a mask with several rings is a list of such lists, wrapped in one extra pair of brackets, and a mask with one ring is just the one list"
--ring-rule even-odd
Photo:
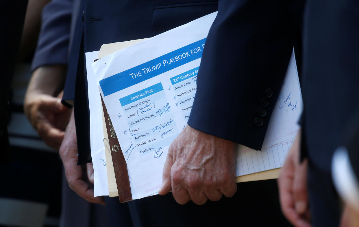
[(307, 1), (303, 19), (302, 156), (309, 160), (309, 206), (313, 226), (339, 226), (341, 202), (330, 166), (334, 150), (355, 135), (346, 126), (358, 119), (359, 4)]

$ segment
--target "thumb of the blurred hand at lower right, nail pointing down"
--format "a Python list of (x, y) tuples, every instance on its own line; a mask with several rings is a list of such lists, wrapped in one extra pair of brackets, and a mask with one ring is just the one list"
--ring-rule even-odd
[(298, 214), (304, 214), (308, 210), (307, 166), (308, 160), (306, 159), (295, 167), (293, 196), (295, 211)]

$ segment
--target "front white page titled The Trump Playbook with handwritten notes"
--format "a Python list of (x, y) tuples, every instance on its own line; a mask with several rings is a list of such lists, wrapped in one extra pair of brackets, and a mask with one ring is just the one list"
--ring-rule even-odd
[[(168, 147), (187, 124), (202, 50), (215, 16), (209, 14), (92, 65), (96, 77), (102, 78), (99, 88), (109, 115), (118, 119), (112, 123), (127, 162), (133, 199), (157, 193), (162, 184)], [(295, 67), (289, 71), (296, 75)], [(299, 112), (299, 106), (297, 101), (294, 110)], [(269, 131), (277, 133), (283, 124), (274, 121), (272, 125)], [(267, 133), (265, 144), (292, 138), (288, 131)], [(247, 151), (244, 146), (241, 149)]]

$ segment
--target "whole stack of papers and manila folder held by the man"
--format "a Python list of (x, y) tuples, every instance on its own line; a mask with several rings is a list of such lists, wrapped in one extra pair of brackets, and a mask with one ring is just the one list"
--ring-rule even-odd
[[(153, 38), (105, 45), (99, 55), (86, 53), (95, 196), (123, 192), (116, 188), (113, 177), (116, 174), (117, 181), (124, 180), (113, 170), (114, 166), (120, 168), (118, 161), (112, 164), (118, 154), (127, 165), (131, 199), (158, 193), (168, 147), (191, 112), (201, 56), (215, 16), (209, 14)], [(99, 93), (107, 108), (104, 114)], [(237, 176), (283, 165), (299, 129), (302, 106), (293, 54), (262, 150), (238, 145)], [(103, 129), (102, 119), (108, 129), (99, 130)], [(116, 131), (118, 145), (109, 141), (115, 136), (112, 130)], [(108, 138), (104, 139), (103, 132), (106, 135), (107, 131)], [(277, 170), (266, 171), (237, 181), (270, 179), (276, 174)]]

